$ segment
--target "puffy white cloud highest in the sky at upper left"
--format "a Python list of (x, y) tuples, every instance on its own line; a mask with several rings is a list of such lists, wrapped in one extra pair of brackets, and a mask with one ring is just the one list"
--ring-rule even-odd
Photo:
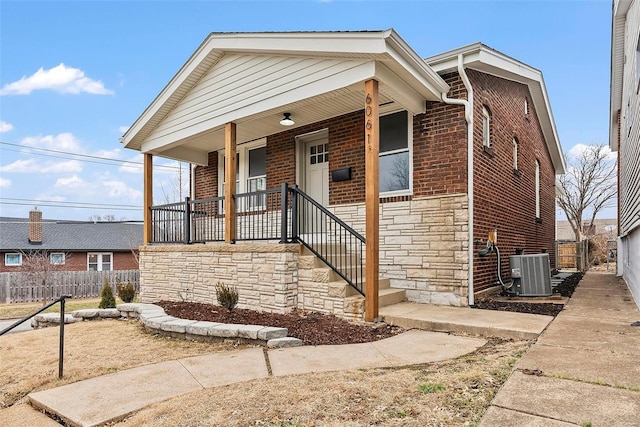
[(113, 91), (104, 87), (99, 80), (85, 76), (84, 71), (67, 67), (63, 63), (45, 70), (40, 68), (31, 76), (6, 84), (0, 89), (0, 95), (28, 95), (34, 90), (50, 89), (59, 93), (94, 95), (112, 95)]

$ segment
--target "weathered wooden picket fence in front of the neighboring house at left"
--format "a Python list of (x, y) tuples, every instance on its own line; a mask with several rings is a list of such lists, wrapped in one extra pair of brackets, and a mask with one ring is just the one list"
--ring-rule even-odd
[[(104, 278), (116, 294), (116, 282), (131, 282), (136, 292), (140, 291), (139, 270), (117, 271), (56, 271), (48, 279), (47, 299), (58, 298), (61, 295), (71, 295), (74, 298), (99, 297), (104, 286)], [(44, 295), (41, 279), (24, 272), (0, 273), (0, 303), (37, 302), (42, 301)]]

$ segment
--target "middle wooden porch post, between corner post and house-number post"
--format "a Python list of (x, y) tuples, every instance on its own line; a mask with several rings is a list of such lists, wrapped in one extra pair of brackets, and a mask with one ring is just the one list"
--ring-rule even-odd
[(224, 173), (224, 241), (236, 240), (236, 124), (224, 125), (224, 155), (226, 157)]

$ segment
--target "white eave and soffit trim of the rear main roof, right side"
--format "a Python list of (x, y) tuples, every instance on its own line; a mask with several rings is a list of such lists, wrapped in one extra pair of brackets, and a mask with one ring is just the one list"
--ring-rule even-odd
[(491, 49), (482, 43), (474, 43), (449, 52), (426, 58), (425, 61), (439, 73), (457, 71), (458, 55), (464, 55), (465, 68), (526, 84), (531, 92), (533, 104), (538, 112), (540, 126), (556, 169), (556, 174), (565, 172), (564, 156), (551, 112), (547, 89), (542, 72), (516, 59)]

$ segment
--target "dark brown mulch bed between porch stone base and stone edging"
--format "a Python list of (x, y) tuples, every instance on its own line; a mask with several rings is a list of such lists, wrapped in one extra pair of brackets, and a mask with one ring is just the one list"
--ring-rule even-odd
[(155, 304), (164, 308), (168, 315), (180, 319), (287, 328), (290, 337), (301, 339), (305, 345), (371, 342), (403, 332), (397, 326), (354, 324), (333, 315), (312, 312), (279, 314), (236, 308), (229, 313), (212, 304), (173, 301)]

